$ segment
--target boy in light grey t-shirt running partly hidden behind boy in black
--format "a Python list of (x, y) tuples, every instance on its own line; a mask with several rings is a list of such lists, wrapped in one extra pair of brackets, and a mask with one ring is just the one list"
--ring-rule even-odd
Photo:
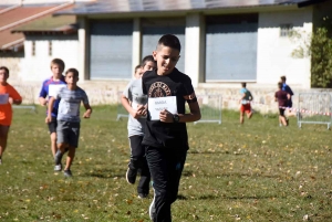
[[(157, 64), (152, 55), (143, 59), (142, 65), (136, 66), (135, 80), (131, 81), (123, 92), (121, 102), (129, 113), (128, 137), (131, 146), (131, 161), (126, 172), (127, 182), (134, 184), (137, 171), (141, 179), (137, 186), (138, 198), (146, 198), (149, 191), (151, 173), (145, 158), (145, 146), (142, 145), (146, 123), (147, 96), (142, 92), (142, 75), (146, 71), (156, 68)], [(138, 70), (139, 68), (139, 70)]]

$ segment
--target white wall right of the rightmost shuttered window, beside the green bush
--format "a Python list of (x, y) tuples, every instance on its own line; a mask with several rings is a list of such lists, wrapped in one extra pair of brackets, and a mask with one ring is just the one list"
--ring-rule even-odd
[(257, 83), (277, 84), (280, 76), (286, 75), (289, 84), (310, 88), (310, 57), (292, 57), (301, 40), (280, 36), (282, 24), (292, 24), (297, 31), (311, 33), (312, 8), (259, 14)]

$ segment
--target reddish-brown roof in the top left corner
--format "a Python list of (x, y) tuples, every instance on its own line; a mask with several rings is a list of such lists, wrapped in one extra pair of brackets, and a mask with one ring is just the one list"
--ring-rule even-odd
[[(0, 51), (22, 49), (23, 33), (12, 33), (13, 29), (41, 18), (51, 17), (58, 10), (70, 9), (72, 3), (32, 4), (1, 7), (0, 10)], [(61, 19), (62, 20), (62, 19)], [(71, 20), (72, 21), (72, 20)], [(70, 23), (68, 23), (70, 24)]]

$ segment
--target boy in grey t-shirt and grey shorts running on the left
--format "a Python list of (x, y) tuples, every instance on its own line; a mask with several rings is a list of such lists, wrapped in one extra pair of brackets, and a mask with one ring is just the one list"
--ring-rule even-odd
[(61, 165), (61, 158), (65, 152), (65, 148), (69, 148), (66, 157), (66, 163), (64, 168), (64, 176), (72, 177), (71, 166), (75, 157), (75, 150), (79, 146), (80, 137), (80, 105), (83, 105), (86, 112), (83, 114), (83, 118), (90, 118), (92, 108), (89, 104), (85, 92), (77, 86), (79, 71), (75, 68), (69, 68), (65, 72), (66, 87), (60, 88), (55, 92), (55, 95), (49, 101), (49, 112), (45, 119), (46, 123), (52, 121), (52, 107), (54, 106), (55, 99), (61, 99), (58, 112), (58, 149), (54, 160), (55, 165)]

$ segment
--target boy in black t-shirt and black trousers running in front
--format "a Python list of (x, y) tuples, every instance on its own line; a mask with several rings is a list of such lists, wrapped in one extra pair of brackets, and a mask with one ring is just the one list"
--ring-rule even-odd
[[(149, 207), (154, 222), (170, 222), (170, 204), (176, 201), (188, 146), (186, 123), (200, 119), (191, 80), (176, 67), (180, 42), (163, 35), (153, 52), (157, 70), (143, 75), (143, 93), (148, 97), (148, 115), (142, 144), (155, 191)], [(186, 102), (189, 113), (185, 113)]]

